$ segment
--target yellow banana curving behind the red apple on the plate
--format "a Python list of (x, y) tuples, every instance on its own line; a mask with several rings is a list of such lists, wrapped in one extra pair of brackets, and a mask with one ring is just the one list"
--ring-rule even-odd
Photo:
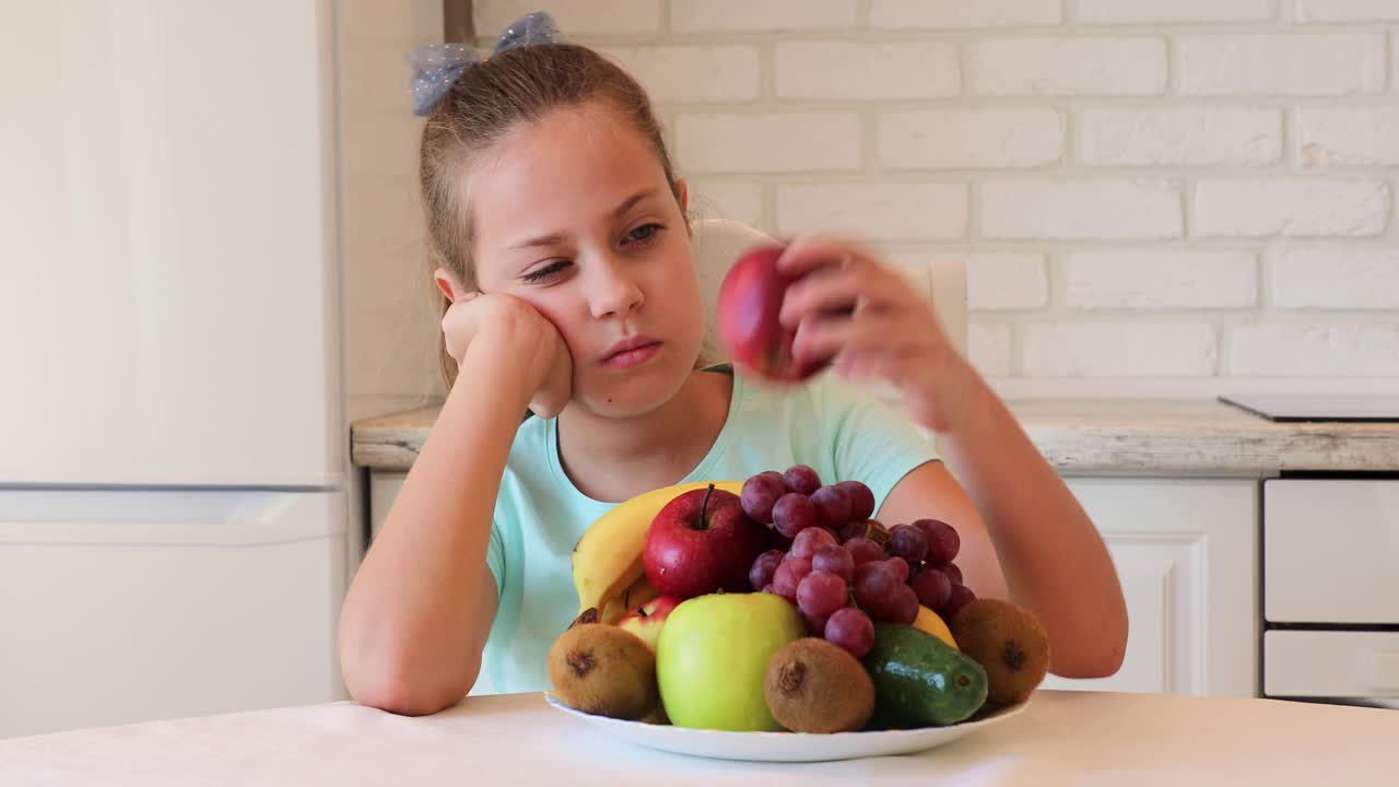
[[(651, 521), (680, 494), (691, 489), (705, 489), (711, 483), (715, 489), (734, 494), (743, 490), (741, 480), (704, 480), (663, 486), (618, 503), (588, 525), (583, 536), (574, 545), (572, 556), (579, 615), (596, 609), (602, 620), (606, 622), (609, 602), (621, 609), (617, 618), (627, 609), (645, 604), (642, 601), (632, 605), (631, 599), (627, 598), (627, 591), (637, 584), (637, 580), (645, 581), (646, 571), (641, 563), (641, 555), (646, 548), (646, 531), (651, 528)], [(653, 588), (652, 592), (655, 592)]]

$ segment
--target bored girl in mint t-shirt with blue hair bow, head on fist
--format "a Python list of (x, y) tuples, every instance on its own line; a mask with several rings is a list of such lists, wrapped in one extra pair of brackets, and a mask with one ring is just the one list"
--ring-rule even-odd
[[(498, 690), (547, 688), (576, 613), (569, 552), (593, 520), (651, 489), (795, 464), (865, 482), (886, 524), (956, 527), (967, 587), (1032, 609), (1055, 674), (1118, 669), (1126, 608), (1093, 522), (874, 252), (802, 237), (781, 259), (804, 274), (782, 307), (795, 351), (834, 370), (774, 389), (704, 367), (687, 188), (642, 88), (553, 36), (424, 84), (450, 389), (344, 601), (358, 702), (449, 707), (483, 651)], [(895, 385), (946, 457), (849, 382), (869, 379)]]

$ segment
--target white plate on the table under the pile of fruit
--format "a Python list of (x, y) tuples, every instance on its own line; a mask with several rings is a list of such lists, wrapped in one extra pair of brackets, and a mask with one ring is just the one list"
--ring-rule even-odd
[(970, 732), (995, 727), (1017, 716), (1030, 704), (1030, 700), (1025, 700), (975, 721), (964, 721), (950, 727), (806, 735), (800, 732), (726, 732), (642, 724), (574, 710), (548, 692), (544, 693), (544, 699), (558, 710), (576, 716), (602, 732), (631, 744), (681, 755), (764, 762), (821, 762), (922, 752), (950, 744)]

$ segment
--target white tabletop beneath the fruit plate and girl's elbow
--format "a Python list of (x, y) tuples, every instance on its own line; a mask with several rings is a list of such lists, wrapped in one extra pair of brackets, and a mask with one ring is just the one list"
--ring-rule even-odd
[(409, 718), (332, 703), (0, 741), (0, 784), (1318, 784), (1399, 783), (1399, 711), (1039, 690), (919, 755), (772, 765), (655, 752), (540, 695)]

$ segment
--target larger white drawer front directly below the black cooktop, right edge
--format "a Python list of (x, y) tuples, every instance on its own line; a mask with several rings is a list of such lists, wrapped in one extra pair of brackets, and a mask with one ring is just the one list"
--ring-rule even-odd
[(1263, 485), (1263, 616), (1399, 623), (1399, 480)]

